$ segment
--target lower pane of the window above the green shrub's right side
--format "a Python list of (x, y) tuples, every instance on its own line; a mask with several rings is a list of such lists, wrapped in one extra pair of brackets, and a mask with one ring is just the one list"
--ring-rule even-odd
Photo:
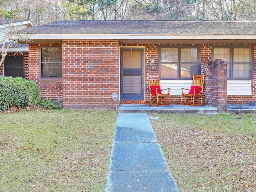
[(42, 63), (42, 77), (62, 77), (62, 63)]

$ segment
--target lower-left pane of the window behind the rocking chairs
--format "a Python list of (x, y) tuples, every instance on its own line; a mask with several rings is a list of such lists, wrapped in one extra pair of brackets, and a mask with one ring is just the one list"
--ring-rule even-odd
[(178, 63), (161, 63), (161, 78), (178, 78)]

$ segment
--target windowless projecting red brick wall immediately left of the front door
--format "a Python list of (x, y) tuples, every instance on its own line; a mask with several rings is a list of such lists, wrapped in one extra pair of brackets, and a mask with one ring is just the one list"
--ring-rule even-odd
[(63, 108), (115, 109), (111, 94), (119, 93), (118, 41), (67, 40), (62, 53)]

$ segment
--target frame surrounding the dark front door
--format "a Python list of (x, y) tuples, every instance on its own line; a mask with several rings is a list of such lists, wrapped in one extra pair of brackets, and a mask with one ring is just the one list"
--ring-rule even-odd
[[(144, 74), (143, 75), (143, 90), (144, 92), (142, 92), (142, 101), (145, 101), (146, 99), (146, 82), (145, 82), (145, 72), (146, 72), (146, 47), (145, 46), (119, 46), (119, 84), (120, 84), (120, 87), (119, 87), (119, 95), (120, 95), (120, 100), (122, 101), (122, 98), (121, 98), (121, 49), (122, 48), (142, 48), (143, 49), (143, 55), (144, 55), (144, 58), (142, 58), (143, 62), (144, 62), (144, 65), (142, 66), (142, 73)], [(128, 101), (128, 100), (123, 100), (123, 101)]]

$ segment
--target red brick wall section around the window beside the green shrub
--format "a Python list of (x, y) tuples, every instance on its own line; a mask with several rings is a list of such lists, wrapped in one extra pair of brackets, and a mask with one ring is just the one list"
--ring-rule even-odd
[(29, 80), (36, 82), (41, 90), (41, 97), (60, 100), (62, 98), (62, 79), (40, 79), (40, 47), (62, 46), (61, 44), (29, 45)]

